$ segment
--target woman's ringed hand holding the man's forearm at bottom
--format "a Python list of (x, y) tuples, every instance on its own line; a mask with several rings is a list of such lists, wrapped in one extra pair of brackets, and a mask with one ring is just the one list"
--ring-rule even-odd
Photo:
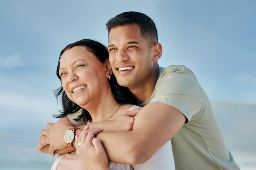
[(76, 135), (76, 154), (89, 170), (110, 170), (106, 151), (101, 141), (94, 137), (102, 131), (101, 128), (89, 129), (89, 126), (85, 126), (79, 137)]

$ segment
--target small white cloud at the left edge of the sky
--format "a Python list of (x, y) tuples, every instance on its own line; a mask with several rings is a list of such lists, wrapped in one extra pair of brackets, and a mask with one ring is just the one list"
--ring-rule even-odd
[(19, 54), (14, 54), (10, 56), (0, 56), (0, 66), (4, 68), (13, 68), (16, 66), (24, 66), (23, 61), (20, 59)]

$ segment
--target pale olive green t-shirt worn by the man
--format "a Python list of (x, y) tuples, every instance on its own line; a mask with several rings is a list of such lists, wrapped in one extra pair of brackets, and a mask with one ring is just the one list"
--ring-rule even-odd
[(170, 105), (186, 116), (187, 121), (171, 139), (176, 170), (239, 169), (209, 98), (191, 70), (184, 65), (160, 67), (153, 93), (139, 106), (150, 102)]

